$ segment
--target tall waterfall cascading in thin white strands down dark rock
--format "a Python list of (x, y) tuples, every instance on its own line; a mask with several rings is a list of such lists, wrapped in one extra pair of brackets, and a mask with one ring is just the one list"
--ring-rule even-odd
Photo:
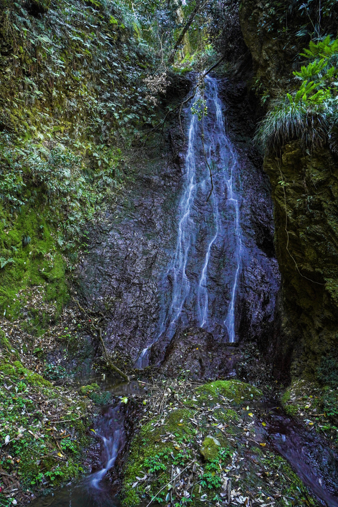
[[(155, 339), (135, 363), (140, 369), (148, 364), (149, 348), (164, 335), (170, 340), (184, 325), (196, 324), (220, 339), (236, 340), (236, 295), (244, 248), (239, 164), (226, 133), (216, 79), (206, 78), (205, 98), (203, 122), (189, 113), (176, 246), (165, 275)], [(213, 179), (209, 199), (208, 166)], [(215, 277), (223, 281), (221, 290), (215, 287)]]

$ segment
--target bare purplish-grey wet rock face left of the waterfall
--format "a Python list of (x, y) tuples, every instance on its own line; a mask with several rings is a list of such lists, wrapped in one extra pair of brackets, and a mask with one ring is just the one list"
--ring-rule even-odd
[(108, 207), (90, 231), (89, 253), (78, 272), (88, 307), (104, 310), (105, 341), (133, 360), (159, 319), (159, 283), (175, 240), (180, 167), (145, 161), (136, 182)]

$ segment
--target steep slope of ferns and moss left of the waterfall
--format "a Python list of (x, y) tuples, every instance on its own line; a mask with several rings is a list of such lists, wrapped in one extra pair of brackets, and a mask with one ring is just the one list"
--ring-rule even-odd
[(17, 316), (16, 295), (43, 287), (55, 312), (29, 309), (39, 333), (67, 300), (85, 224), (128, 182), (126, 151), (155, 123), (145, 77), (175, 11), (155, 0), (0, 7), (0, 308)]

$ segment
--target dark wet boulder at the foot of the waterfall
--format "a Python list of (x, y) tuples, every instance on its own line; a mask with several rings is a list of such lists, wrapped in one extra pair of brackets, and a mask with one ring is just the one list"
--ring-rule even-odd
[[(151, 362), (162, 357), (157, 342), (151, 351)], [(236, 347), (217, 342), (201, 328), (187, 328), (176, 333), (166, 349), (160, 372), (166, 377), (185, 375), (192, 379), (215, 379), (235, 375), (234, 368), (241, 356)]]

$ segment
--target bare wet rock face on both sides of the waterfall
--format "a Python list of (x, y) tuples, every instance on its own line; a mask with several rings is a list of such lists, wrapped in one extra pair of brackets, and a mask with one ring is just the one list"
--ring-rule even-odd
[[(231, 90), (234, 90), (233, 95)], [(269, 180), (262, 171), (261, 160), (253, 153), (251, 133), (247, 132), (247, 125), (253, 122), (245, 119), (242, 125), (239, 115), (247, 106), (245, 96), (245, 90), (224, 82), (223, 102), (229, 100), (224, 113), (238, 153), (243, 187), (240, 216), (245, 253), (236, 297), (236, 335), (239, 340), (258, 340), (268, 349), (276, 329), (275, 299), (279, 273), (272, 240)], [(167, 135), (166, 155), (157, 161), (139, 163), (134, 168), (134, 183), (128, 184), (116, 204), (109, 205), (89, 231), (88, 253), (78, 270), (79, 292), (86, 305), (98, 306), (106, 315), (104, 339), (107, 346), (111, 349), (124, 347), (133, 360), (156, 338), (163, 301), (170, 297), (172, 282), (166, 272), (176, 246), (185, 152), (180, 128), (171, 128)], [(210, 235), (210, 231), (206, 229), (206, 232)], [(226, 263), (227, 259), (210, 263), (210, 301), (223, 298), (221, 304), (227, 309), (229, 287), (220, 277), (217, 266), (221, 262)], [(194, 279), (192, 263), (188, 268), (188, 276)], [(219, 306), (214, 307), (210, 310), (210, 321), (212, 312), (219, 311)], [(184, 318), (177, 322), (176, 341), (180, 340), (182, 330), (198, 325), (189, 305), (184, 311)], [(210, 331), (212, 335), (208, 333)], [(216, 343), (226, 341), (227, 337), (224, 331), (218, 332), (216, 328), (206, 327), (203, 333), (203, 343), (215, 359), (211, 360), (211, 366), (202, 360), (201, 366), (196, 355), (194, 364), (198, 374), (207, 378), (208, 372), (216, 366), (218, 370), (224, 369), (216, 357)], [(171, 336), (168, 338), (164, 334), (153, 346), (151, 359), (155, 364), (164, 358)], [(191, 340), (201, 339), (201, 336), (197, 333)], [(168, 363), (168, 371), (170, 368), (174, 371)]]

